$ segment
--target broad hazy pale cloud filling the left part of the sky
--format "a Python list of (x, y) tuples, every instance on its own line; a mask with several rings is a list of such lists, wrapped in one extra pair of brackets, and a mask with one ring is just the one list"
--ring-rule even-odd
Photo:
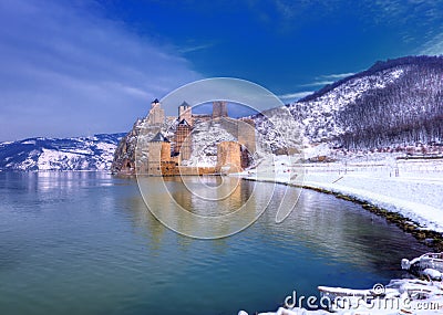
[(174, 48), (82, 6), (0, 2), (0, 140), (124, 132), (202, 77)]

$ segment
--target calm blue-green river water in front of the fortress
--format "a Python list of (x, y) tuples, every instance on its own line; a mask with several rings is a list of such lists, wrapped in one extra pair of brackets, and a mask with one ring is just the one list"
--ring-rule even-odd
[[(168, 185), (181, 203), (205, 210)], [(240, 185), (209, 210), (274, 187)], [(426, 251), (361, 207), (309, 190), (282, 223), (274, 200), (255, 224), (219, 240), (168, 230), (135, 179), (106, 174), (0, 172), (0, 314), (254, 314), (293, 290), (387, 283), (404, 275), (402, 258)]]

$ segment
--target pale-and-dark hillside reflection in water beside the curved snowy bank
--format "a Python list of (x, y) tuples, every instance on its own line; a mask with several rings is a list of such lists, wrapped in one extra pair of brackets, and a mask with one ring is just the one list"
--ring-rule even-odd
[(257, 227), (277, 246), (290, 248), (288, 242), (301, 242), (326, 261), (353, 264), (374, 273), (396, 271), (398, 276), (404, 275), (399, 267), (404, 251), (426, 251), (425, 245), (395, 224), (330, 195), (303, 190), (281, 224), (272, 220), (277, 207), (271, 202)]

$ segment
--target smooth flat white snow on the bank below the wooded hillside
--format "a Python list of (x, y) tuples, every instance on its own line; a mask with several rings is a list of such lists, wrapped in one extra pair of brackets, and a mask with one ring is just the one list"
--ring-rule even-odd
[(384, 159), (303, 164), (300, 169), (290, 157), (279, 156), (257, 169), (240, 176), (343, 193), (443, 232), (443, 160), (399, 160), (384, 155)]

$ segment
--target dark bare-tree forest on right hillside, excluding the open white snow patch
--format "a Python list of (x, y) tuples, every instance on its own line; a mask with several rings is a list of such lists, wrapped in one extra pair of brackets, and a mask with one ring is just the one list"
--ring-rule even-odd
[[(443, 140), (443, 57), (441, 56), (409, 56), (377, 62), (368, 71), (341, 80), (300, 99), (295, 104), (295, 108), (306, 111), (306, 104), (319, 99), (340, 85), (348, 84), (352, 78), (377, 76), (383, 71), (393, 69), (403, 71), (394, 82), (383, 88), (369, 88), (343, 108), (324, 114), (332, 115), (332, 125), (343, 130), (338, 134), (331, 133), (331, 138), (328, 140), (336, 147), (344, 149), (441, 145)], [(300, 112), (298, 115), (303, 116)], [(316, 118), (316, 123), (318, 126), (313, 127), (313, 133), (328, 129), (331, 119)], [(329, 130), (331, 129), (329, 127)]]

